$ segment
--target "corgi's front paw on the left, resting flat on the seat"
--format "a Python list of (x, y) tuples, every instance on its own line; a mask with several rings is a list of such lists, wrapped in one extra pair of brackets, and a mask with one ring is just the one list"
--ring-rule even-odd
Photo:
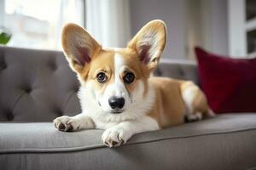
[(60, 116), (55, 118), (56, 129), (64, 132), (71, 132), (79, 129), (78, 123), (70, 116)]

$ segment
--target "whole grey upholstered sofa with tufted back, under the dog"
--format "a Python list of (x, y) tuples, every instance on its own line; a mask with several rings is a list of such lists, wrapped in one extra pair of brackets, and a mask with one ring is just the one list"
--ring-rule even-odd
[[(155, 74), (198, 83), (195, 63), (163, 59)], [(80, 112), (78, 89), (61, 52), (0, 47), (1, 170), (256, 168), (256, 113), (140, 133), (109, 149), (102, 130), (55, 129), (55, 117)]]

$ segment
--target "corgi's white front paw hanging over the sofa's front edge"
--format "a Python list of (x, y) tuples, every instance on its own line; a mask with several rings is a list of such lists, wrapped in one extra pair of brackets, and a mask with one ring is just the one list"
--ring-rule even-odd
[(116, 147), (125, 144), (131, 138), (131, 133), (123, 127), (110, 127), (102, 134), (102, 141), (108, 147)]

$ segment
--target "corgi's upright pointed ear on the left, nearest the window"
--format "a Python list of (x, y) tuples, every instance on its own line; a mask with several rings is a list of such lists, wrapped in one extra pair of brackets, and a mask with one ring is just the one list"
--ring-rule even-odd
[(82, 71), (93, 55), (102, 48), (84, 28), (75, 24), (63, 27), (61, 42), (67, 61), (73, 70), (78, 72)]

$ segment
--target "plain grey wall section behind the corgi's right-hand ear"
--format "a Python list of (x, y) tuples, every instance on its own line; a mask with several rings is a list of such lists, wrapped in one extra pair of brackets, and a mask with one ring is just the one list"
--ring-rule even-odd
[(131, 35), (149, 20), (166, 22), (167, 42), (163, 58), (186, 59), (185, 0), (131, 0)]

